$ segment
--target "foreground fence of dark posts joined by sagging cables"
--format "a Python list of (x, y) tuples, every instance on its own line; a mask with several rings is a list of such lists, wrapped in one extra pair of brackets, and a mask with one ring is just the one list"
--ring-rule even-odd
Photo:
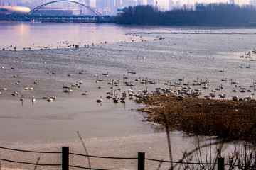
[[(170, 164), (193, 164), (193, 165), (198, 165), (199, 163), (195, 162), (170, 162), (166, 160), (159, 160), (159, 159), (149, 159), (145, 157), (144, 152), (138, 152), (138, 157), (101, 157), (101, 156), (93, 156), (93, 155), (87, 155), (87, 154), (76, 154), (69, 152), (69, 147), (63, 147), (63, 152), (41, 152), (41, 151), (31, 151), (31, 150), (23, 150), (23, 149), (11, 149), (7, 147), (0, 147), (0, 149), (6, 149), (6, 150), (11, 150), (11, 151), (16, 151), (16, 152), (28, 152), (28, 153), (37, 153), (37, 154), (62, 154), (62, 164), (39, 164), (38, 162), (33, 163), (33, 162), (21, 162), (21, 161), (14, 161), (10, 159), (4, 159), (0, 157), (0, 160), (3, 162), (11, 162), (11, 163), (19, 163), (19, 164), (28, 164), (28, 165), (34, 165), (34, 166), (62, 166), (63, 170), (68, 170), (69, 167), (77, 168), (77, 169), (97, 169), (97, 168), (92, 168), (92, 167), (85, 167), (85, 166), (78, 166), (78, 165), (72, 165), (69, 164), (69, 155), (74, 155), (74, 156), (79, 156), (79, 157), (90, 157), (90, 158), (98, 158), (98, 159), (129, 159), (129, 160), (136, 160), (138, 162), (138, 169), (144, 170), (144, 164), (145, 160), (151, 161), (151, 162), (165, 162), (165, 163), (170, 163)], [(220, 158), (223, 159), (223, 158)], [(39, 161), (39, 157), (38, 157)], [(224, 159), (221, 160), (218, 163), (200, 163), (200, 165), (218, 165), (218, 170), (223, 170), (224, 166), (227, 164), (224, 164)], [(0, 164), (0, 169), (1, 169), (1, 164)], [(108, 169), (97, 169), (97, 170), (108, 170)]]

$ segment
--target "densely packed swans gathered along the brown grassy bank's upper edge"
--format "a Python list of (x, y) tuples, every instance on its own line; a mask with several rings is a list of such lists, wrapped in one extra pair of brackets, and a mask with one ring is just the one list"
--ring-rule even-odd
[[(130, 72), (131, 73), (131, 72)], [(154, 84), (155, 86), (157, 86), (156, 81), (150, 81), (147, 77), (142, 79), (141, 77), (139, 77), (139, 79), (134, 79), (134, 81), (136, 82), (136, 84), (132, 84), (132, 81), (126, 81), (126, 79), (128, 79), (128, 77), (124, 76), (123, 82), (126, 86), (130, 86), (128, 89), (128, 93), (126, 93), (126, 91), (124, 91), (122, 93), (122, 98), (119, 98), (119, 95), (117, 94), (117, 90), (111, 90), (109, 92), (107, 92), (107, 99), (112, 98), (113, 101), (115, 103), (117, 103), (118, 101), (124, 102), (124, 99), (129, 96), (129, 99), (133, 99), (135, 98), (149, 98), (150, 97), (150, 93), (148, 91), (148, 84)], [(220, 83), (220, 86), (216, 87), (215, 89), (211, 89), (209, 90), (209, 85), (210, 85), (210, 81), (208, 81), (208, 79), (206, 78), (205, 81), (203, 81), (202, 79), (199, 80), (199, 78), (197, 78), (196, 80), (193, 80), (193, 83), (185, 82), (184, 81), (184, 77), (182, 79), (178, 79), (178, 82), (174, 82), (171, 83), (171, 81), (167, 81), (164, 84), (161, 84), (161, 86), (164, 85), (164, 87), (158, 86), (154, 89), (154, 91), (151, 91), (152, 94), (159, 94), (162, 96), (172, 96), (172, 97), (176, 97), (179, 99), (183, 99), (184, 97), (200, 97), (200, 98), (206, 98), (206, 99), (213, 99), (215, 97), (219, 97), (219, 98), (226, 98), (226, 94), (221, 93), (221, 90), (224, 89), (224, 86), (222, 83)], [(228, 81), (227, 78), (225, 79), (221, 79), (220, 81)], [(112, 84), (117, 87), (119, 87), (119, 80), (115, 81), (112, 80), (112, 82), (109, 82), (108, 84)], [(132, 86), (139, 86), (139, 84), (146, 84), (146, 89), (142, 90), (139, 89), (137, 92), (135, 92), (132, 89)], [(158, 84), (159, 85), (159, 84)], [(251, 89), (247, 89), (245, 87), (239, 86), (238, 83), (236, 83), (235, 81), (233, 81), (233, 79), (230, 79), (230, 85), (231, 87), (233, 86), (233, 90), (232, 92), (235, 94), (237, 92), (240, 93), (250, 93), (249, 96), (245, 97), (245, 98), (239, 98), (238, 95), (232, 96), (232, 100), (233, 101), (255, 101), (255, 98), (253, 98), (252, 96), (255, 94), (254, 92), (252, 93), (252, 91), (256, 90), (256, 80), (254, 80), (252, 82), (252, 84), (250, 85)], [(110, 86), (110, 89), (112, 89), (113, 86)], [(208, 95), (202, 96), (203, 91), (210, 91), (210, 93)], [(217, 95), (216, 93), (219, 92), (219, 94)], [(97, 99), (97, 102), (102, 102), (102, 96), (100, 96), (100, 98)]]

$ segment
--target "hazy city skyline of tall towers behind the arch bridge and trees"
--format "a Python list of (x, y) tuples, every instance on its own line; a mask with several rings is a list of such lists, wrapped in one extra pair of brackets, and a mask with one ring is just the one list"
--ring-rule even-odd
[[(29, 8), (35, 8), (41, 4), (53, 0), (0, 0), (1, 4), (11, 5), (11, 6), (27, 6)], [(118, 8), (124, 8), (126, 6), (136, 6), (136, 5), (155, 5), (161, 10), (170, 10), (173, 8), (182, 8), (183, 5), (190, 6), (196, 3), (210, 4), (210, 3), (228, 3), (228, 4), (252, 4), (256, 6), (256, 0), (73, 0), (78, 1), (82, 4), (90, 6), (92, 8), (97, 8), (102, 14), (105, 15), (115, 15)], [(51, 4), (49, 8), (79, 8), (78, 4), (67, 4), (65, 2), (60, 2), (56, 4)], [(85, 13), (86, 9), (82, 8)]]

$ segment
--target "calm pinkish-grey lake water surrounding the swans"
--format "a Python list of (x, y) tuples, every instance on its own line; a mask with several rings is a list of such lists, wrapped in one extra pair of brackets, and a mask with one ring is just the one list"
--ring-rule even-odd
[[(184, 77), (181, 84), (189, 82), (192, 89), (201, 89), (202, 98), (220, 86), (223, 89), (216, 91), (215, 98), (220, 93), (226, 94), (226, 99), (235, 95), (253, 97), (255, 92), (250, 87), (256, 79), (256, 55), (252, 54), (255, 29), (1, 22), (0, 35), (0, 49), (5, 49), (0, 51), (4, 67), (0, 69), (0, 87), (7, 89), (0, 95), (0, 137), (4, 146), (41, 150), (69, 145), (79, 151), (79, 131), (95, 154), (136, 157), (142, 149), (149, 157), (168, 159), (165, 134), (145, 123), (142, 113), (136, 111), (143, 105), (128, 98), (125, 103), (113, 103), (106, 98), (108, 91), (116, 90), (121, 96), (131, 88), (124, 81), (132, 82), (134, 91), (154, 91), (167, 87), (166, 81), (174, 84)], [(70, 48), (70, 44), (79, 48)], [(245, 52), (250, 52), (250, 58), (240, 58)], [(128, 69), (136, 74), (129, 74)], [(107, 72), (109, 77), (103, 75)], [(95, 74), (102, 81), (96, 82)], [(156, 84), (134, 81), (139, 77)], [(221, 81), (225, 78), (227, 81)], [(197, 79), (210, 81), (208, 89), (193, 86)], [(231, 79), (246, 92), (239, 92)], [(119, 81), (119, 87), (108, 84), (112, 80)], [(80, 88), (74, 87), (69, 94), (63, 92), (63, 84), (70, 86), (79, 81)], [(33, 91), (26, 87), (33, 87)], [(11, 95), (14, 91), (18, 96)], [(82, 96), (85, 91), (88, 94)], [(42, 99), (48, 94), (57, 99), (50, 103)], [(100, 96), (103, 102), (97, 103)], [(194, 147), (191, 140), (195, 139), (184, 139), (180, 132), (172, 139), (177, 159), (182, 151)]]

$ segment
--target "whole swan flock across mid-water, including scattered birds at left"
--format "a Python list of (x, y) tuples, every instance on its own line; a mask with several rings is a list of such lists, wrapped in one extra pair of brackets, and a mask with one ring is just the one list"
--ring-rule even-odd
[[(1, 69), (4, 69), (5, 67), (2, 66)], [(11, 69), (15, 69), (15, 67), (11, 67)], [(224, 72), (223, 70), (220, 70), (220, 72)], [(55, 72), (48, 72), (47, 74), (56, 74)], [(81, 70), (80, 72), (78, 72), (78, 74), (83, 74), (83, 70)], [(232, 93), (250, 93), (249, 96), (245, 97), (245, 98), (239, 98), (238, 95), (232, 96), (231, 100), (233, 101), (255, 101), (255, 98), (253, 98), (252, 96), (254, 95), (255, 89), (256, 89), (256, 80), (252, 81), (252, 84), (250, 85), (249, 88), (245, 88), (240, 86), (237, 82), (233, 81), (233, 79), (228, 80), (228, 78), (225, 79), (220, 79), (220, 85), (217, 86), (216, 88), (212, 88), (211, 90), (209, 89), (210, 86), (210, 81), (208, 80), (208, 78), (206, 78), (205, 80), (203, 79), (199, 79), (199, 77), (195, 80), (192, 81), (185, 81), (185, 77), (182, 77), (182, 79), (177, 79), (174, 82), (171, 81), (166, 81), (164, 83), (158, 83), (156, 81), (151, 81), (148, 77), (142, 78), (142, 77), (138, 77), (137, 79), (131, 79), (129, 77), (129, 75), (137, 75), (137, 72), (134, 72), (133, 70), (127, 70), (126, 74), (123, 74), (123, 79), (118, 79), (117, 81), (114, 81), (114, 79), (112, 79), (112, 81), (107, 82), (107, 79), (111, 79), (112, 77), (110, 76), (110, 73), (107, 72), (105, 74), (102, 74), (102, 77), (105, 77), (106, 79), (99, 79), (99, 74), (95, 74), (93, 75), (93, 77), (96, 77), (95, 83), (99, 83), (100, 81), (103, 81), (102, 84), (105, 84), (106, 86), (109, 86), (109, 88), (111, 89), (111, 91), (107, 92), (107, 100), (110, 100), (112, 98), (114, 103), (118, 103), (119, 101), (121, 103), (125, 103), (125, 99), (127, 97), (129, 97), (129, 99), (133, 99), (133, 98), (149, 98), (150, 94), (159, 94), (159, 95), (163, 95), (163, 96), (172, 96), (172, 97), (176, 97), (179, 99), (184, 98), (185, 96), (188, 97), (199, 97), (199, 98), (206, 98), (206, 99), (213, 99), (213, 98), (217, 98), (217, 96), (219, 98), (225, 99), (226, 98), (226, 94), (221, 93), (222, 89), (224, 89), (225, 87), (223, 86), (223, 84), (227, 84), (227, 81), (230, 81), (230, 85), (231, 87), (233, 87), (232, 89)], [(71, 74), (67, 74), (68, 77), (71, 76)], [(14, 75), (14, 78), (18, 78), (18, 75)], [(16, 81), (14, 82), (14, 84), (21, 86), (21, 82), (20, 81)], [(33, 84), (36, 86), (38, 84), (38, 80), (36, 79), (35, 81), (33, 81)], [(63, 92), (64, 93), (72, 93), (74, 88), (80, 88), (80, 85), (82, 84), (81, 79), (79, 79), (79, 81), (76, 82), (76, 84), (70, 84), (70, 86), (66, 86), (65, 84), (63, 84), (62, 88), (63, 88)], [(145, 89), (138, 89), (136, 88), (136, 86), (144, 86)], [(134, 89), (137, 89), (137, 91), (135, 91), (133, 89), (133, 87), (135, 87)], [(149, 93), (148, 91), (148, 87), (150, 89), (154, 89), (154, 91), (151, 91)], [(100, 87), (98, 87), (100, 88)], [(127, 89), (126, 91), (122, 92), (122, 96), (119, 96), (119, 94), (117, 94), (117, 91), (121, 91), (122, 89)], [(251, 89), (250, 89), (251, 88)], [(0, 90), (0, 94), (3, 93), (4, 91), (6, 91), (7, 88), (3, 87)], [(33, 85), (31, 86), (26, 86), (24, 87), (25, 91), (33, 91)], [(210, 91), (210, 93), (208, 93), (207, 95), (203, 95), (205, 94), (207, 91)], [(217, 94), (218, 93), (218, 94)], [(14, 91), (14, 93), (11, 93), (12, 96), (18, 96), (19, 91)], [(88, 95), (88, 91), (82, 92), (81, 95), (87, 96)], [(203, 95), (203, 96), (202, 96)], [(103, 95), (102, 95), (103, 96)], [(103, 102), (103, 98), (102, 96), (100, 96), (100, 98), (97, 98), (96, 101), (99, 103)], [(46, 101), (48, 102), (52, 102), (54, 101), (57, 97), (56, 96), (43, 96), (43, 99), (46, 99)], [(23, 94), (21, 94), (21, 98), (20, 101), (23, 102), (24, 98), (23, 98)], [(31, 98), (32, 103), (36, 102), (36, 98), (33, 96)]]

